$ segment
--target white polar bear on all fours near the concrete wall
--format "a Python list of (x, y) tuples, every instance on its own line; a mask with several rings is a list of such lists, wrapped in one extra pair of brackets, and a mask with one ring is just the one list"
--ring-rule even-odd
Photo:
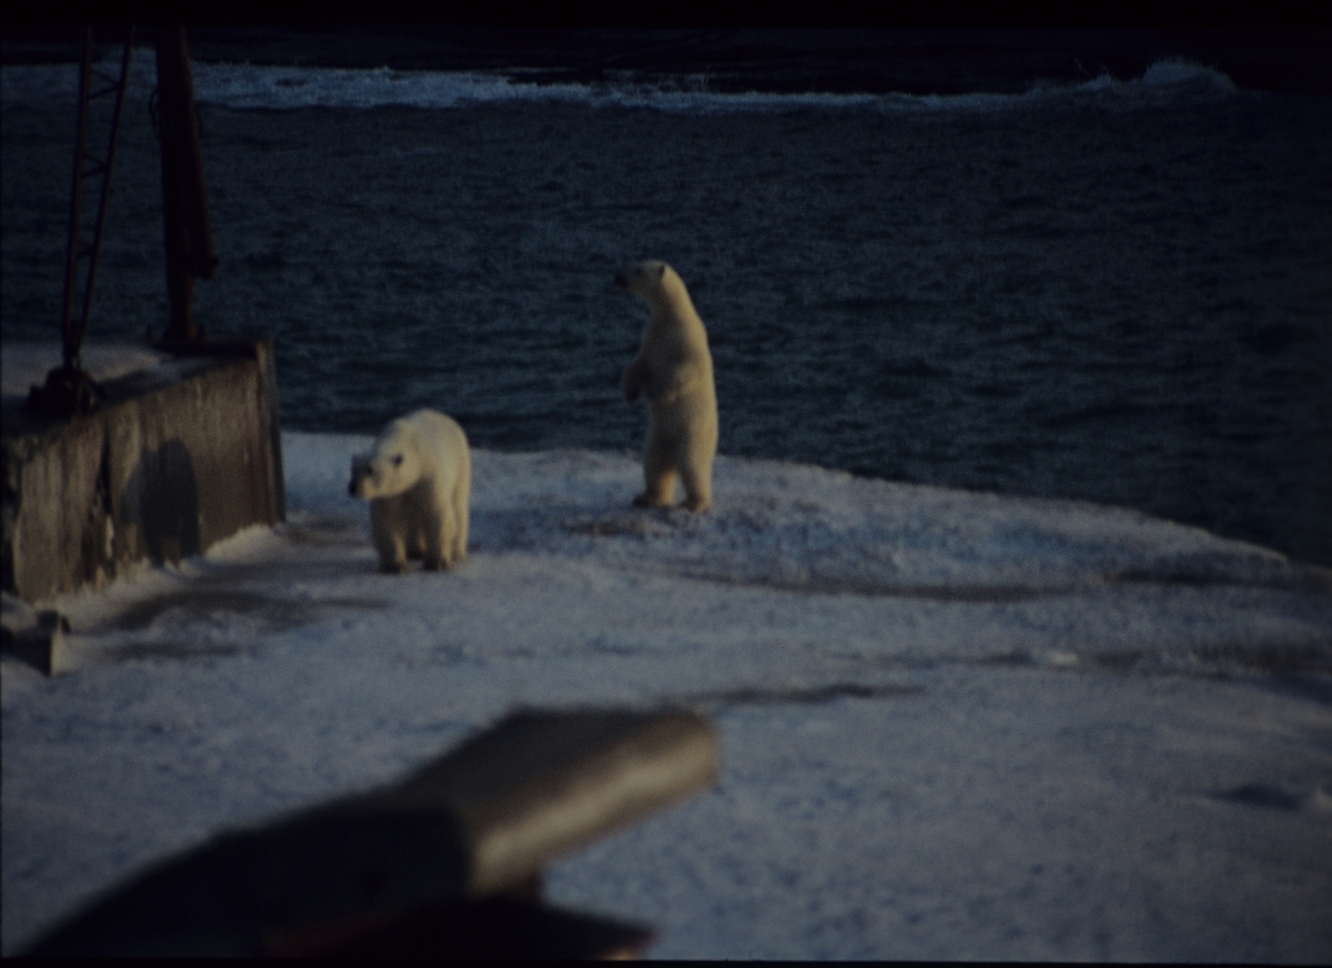
[(408, 558), (433, 571), (466, 557), (472, 454), (453, 418), (417, 410), (390, 422), (373, 451), (352, 458), (348, 490), (370, 502), (382, 571), (402, 571)]

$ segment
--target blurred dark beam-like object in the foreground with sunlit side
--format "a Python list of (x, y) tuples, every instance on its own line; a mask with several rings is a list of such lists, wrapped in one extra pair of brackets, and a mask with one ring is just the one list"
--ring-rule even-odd
[(163, 861), (28, 953), (261, 955), (321, 925), (502, 895), (717, 774), (693, 712), (519, 712), (398, 783)]

